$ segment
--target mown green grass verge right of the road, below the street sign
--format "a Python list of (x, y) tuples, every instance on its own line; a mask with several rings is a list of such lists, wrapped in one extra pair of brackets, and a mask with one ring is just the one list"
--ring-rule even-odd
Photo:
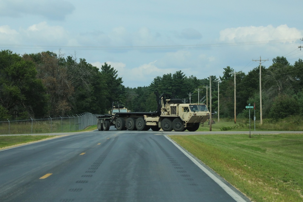
[(169, 137), (253, 201), (303, 201), (303, 134)]

